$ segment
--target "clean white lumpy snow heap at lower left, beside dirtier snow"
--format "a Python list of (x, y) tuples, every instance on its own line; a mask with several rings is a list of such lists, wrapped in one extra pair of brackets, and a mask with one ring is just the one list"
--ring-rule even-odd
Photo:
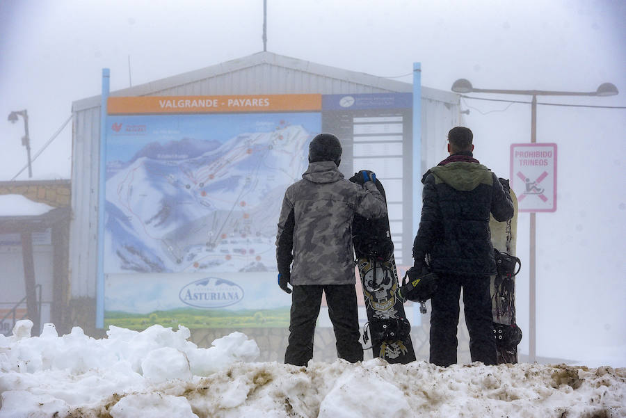
[(64, 417), (76, 406), (99, 408), (112, 394), (150, 391), (151, 385), (207, 376), (259, 356), (256, 342), (241, 332), (198, 348), (183, 326), (172, 331), (153, 325), (143, 332), (111, 326), (105, 339), (87, 337), (78, 327), (58, 337), (51, 323), (40, 337), (30, 337), (32, 326), (18, 321), (12, 337), (0, 335), (0, 417), (39, 409)]

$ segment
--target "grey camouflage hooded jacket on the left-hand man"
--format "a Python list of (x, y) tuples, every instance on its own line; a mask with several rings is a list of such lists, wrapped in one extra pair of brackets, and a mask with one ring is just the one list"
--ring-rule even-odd
[(344, 179), (333, 161), (310, 163), (284, 193), (276, 236), (278, 272), (291, 284), (354, 284), (354, 214), (382, 218), (387, 206), (373, 182)]

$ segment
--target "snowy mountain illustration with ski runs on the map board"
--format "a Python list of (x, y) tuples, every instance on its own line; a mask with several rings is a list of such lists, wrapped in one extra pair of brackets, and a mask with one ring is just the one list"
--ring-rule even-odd
[(306, 170), (312, 138), (281, 123), (223, 142), (154, 141), (109, 161), (106, 271), (275, 271), (282, 197)]

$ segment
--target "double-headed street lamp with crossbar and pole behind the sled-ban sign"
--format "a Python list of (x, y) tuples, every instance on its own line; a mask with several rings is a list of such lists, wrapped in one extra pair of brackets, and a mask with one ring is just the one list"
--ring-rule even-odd
[[(594, 92), (546, 91), (546, 90), (500, 90), (474, 88), (467, 79), (458, 79), (452, 84), (454, 93), (497, 93), (503, 95), (529, 95), (531, 102), (531, 143), (537, 142), (537, 96), (614, 96), (618, 89), (612, 83), (602, 83)], [(529, 256), (529, 362), (536, 358), (536, 213), (530, 214), (530, 256)]]

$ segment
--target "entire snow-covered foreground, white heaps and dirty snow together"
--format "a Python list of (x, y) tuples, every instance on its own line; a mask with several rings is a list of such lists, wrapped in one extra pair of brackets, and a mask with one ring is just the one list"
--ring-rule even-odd
[(0, 335), (0, 418), (626, 417), (626, 368), (255, 362), (241, 332), (111, 327), (104, 339), (19, 321)]

